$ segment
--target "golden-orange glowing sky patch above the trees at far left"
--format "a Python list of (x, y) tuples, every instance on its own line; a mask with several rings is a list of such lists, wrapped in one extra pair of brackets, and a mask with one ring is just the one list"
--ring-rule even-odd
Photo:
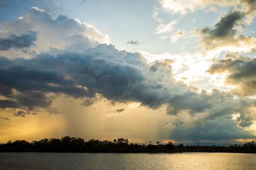
[[(41, 140), (42, 137), (61, 137), (66, 128), (63, 115), (49, 115), (42, 112), (39, 115), (26, 115), (25, 118), (12, 116), (10, 119), (11, 121), (0, 119), (1, 124), (6, 124), (5, 126), (8, 127), (4, 132), (0, 130), (0, 143), (9, 140), (26, 139), (31, 142)], [(19, 124), (19, 128), (16, 124)]]

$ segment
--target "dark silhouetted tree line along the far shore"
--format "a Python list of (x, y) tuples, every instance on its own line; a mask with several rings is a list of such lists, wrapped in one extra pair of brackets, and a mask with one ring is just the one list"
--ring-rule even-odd
[(168, 144), (149, 145), (133, 144), (128, 139), (118, 138), (113, 141), (90, 139), (85, 141), (81, 137), (65, 136), (61, 139), (50, 138), (40, 141), (28, 142), (25, 140), (8, 141), (6, 144), (0, 144), (0, 152), (246, 152), (256, 153), (256, 143), (254, 141), (246, 142), (243, 146), (184, 146), (183, 144), (175, 146), (172, 142)]

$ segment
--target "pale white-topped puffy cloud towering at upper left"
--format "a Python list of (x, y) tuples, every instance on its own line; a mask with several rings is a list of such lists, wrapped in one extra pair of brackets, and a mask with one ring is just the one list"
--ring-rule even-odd
[[(36, 53), (48, 51), (49, 48), (83, 52), (99, 44), (110, 43), (108, 35), (101, 34), (88, 23), (75, 18), (70, 19), (65, 15), (59, 15), (54, 20), (49, 13), (37, 7), (27, 10), (24, 17), (5, 22), (2, 24), (1, 31), (1, 49), (21, 48), (20, 44), (29, 47), (32, 45), (31, 43), (34, 43), (36, 46), (32, 46), (30, 50)], [(5, 38), (7, 35), (11, 36)], [(15, 41), (16, 44), (13, 44), (14, 38), (19, 40)], [(2, 46), (3, 41), (7, 40), (9, 47), (8, 44)], [(25, 43), (22, 43), (22, 41), (25, 41)], [(34, 57), (34, 55), (30, 57)]]

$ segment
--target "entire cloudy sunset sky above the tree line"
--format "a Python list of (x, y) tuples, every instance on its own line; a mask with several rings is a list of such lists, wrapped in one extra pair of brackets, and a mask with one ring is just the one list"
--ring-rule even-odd
[(256, 0), (0, 0), (0, 143), (256, 140)]

